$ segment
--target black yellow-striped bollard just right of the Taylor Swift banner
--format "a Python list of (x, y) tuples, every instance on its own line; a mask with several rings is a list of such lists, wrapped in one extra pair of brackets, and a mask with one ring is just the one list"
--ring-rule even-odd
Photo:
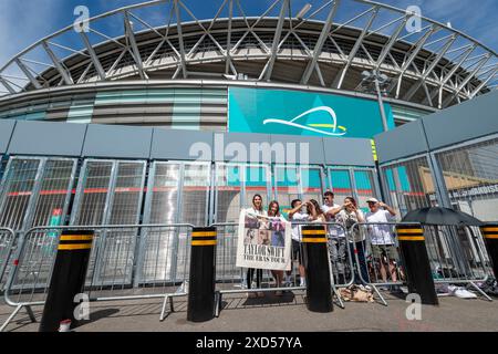
[(307, 274), (308, 310), (331, 312), (333, 311), (332, 284), (325, 228), (323, 226), (303, 226), (301, 233)]

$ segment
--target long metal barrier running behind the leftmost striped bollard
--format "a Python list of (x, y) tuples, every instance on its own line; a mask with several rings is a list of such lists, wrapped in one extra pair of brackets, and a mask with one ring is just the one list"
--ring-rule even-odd
[(170, 311), (173, 298), (187, 295), (190, 235), (194, 226), (125, 225), (37, 227), (21, 240), (6, 285), (4, 300), (15, 310), (0, 327), (3, 331), (21, 309), (35, 322), (33, 305), (44, 304), (62, 230), (94, 230), (86, 274), (90, 301), (164, 299)]

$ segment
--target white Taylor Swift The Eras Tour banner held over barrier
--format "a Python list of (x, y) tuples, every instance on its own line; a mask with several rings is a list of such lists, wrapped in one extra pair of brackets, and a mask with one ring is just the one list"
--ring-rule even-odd
[(291, 223), (280, 219), (240, 212), (237, 267), (290, 270)]

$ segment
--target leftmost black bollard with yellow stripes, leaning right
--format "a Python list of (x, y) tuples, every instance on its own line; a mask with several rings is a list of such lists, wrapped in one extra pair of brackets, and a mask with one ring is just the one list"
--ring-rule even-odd
[(40, 332), (58, 332), (61, 321), (77, 324), (74, 296), (82, 293), (92, 250), (94, 231), (64, 230), (61, 235), (58, 256), (50, 281)]

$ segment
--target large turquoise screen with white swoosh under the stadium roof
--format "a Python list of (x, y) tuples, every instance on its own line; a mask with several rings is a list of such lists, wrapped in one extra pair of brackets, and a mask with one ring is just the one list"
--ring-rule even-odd
[[(383, 132), (376, 101), (290, 90), (230, 87), (231, 133), (372, 138)], [(385, 103), (388, 128), (394, 127)]]

